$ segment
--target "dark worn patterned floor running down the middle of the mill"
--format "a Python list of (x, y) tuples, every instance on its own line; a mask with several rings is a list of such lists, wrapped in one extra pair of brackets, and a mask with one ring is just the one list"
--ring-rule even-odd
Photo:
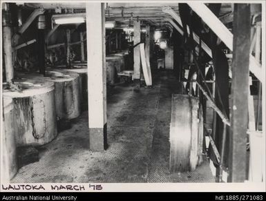
[(191, 173), (169, 172), (171, 94), (178, 82), (157, 74), (153, 88), (108, 88), (108, 149), (88, 150), (88, 113), (39, 147), (39, 162), (19, 169), (12, 182), (214, 182), (207, 160)]

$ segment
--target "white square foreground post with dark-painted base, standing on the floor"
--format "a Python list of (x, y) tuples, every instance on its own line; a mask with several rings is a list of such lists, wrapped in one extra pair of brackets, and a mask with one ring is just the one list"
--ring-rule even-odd
[(107, 149), (104, 3), (86, 3), (90, 149)]

